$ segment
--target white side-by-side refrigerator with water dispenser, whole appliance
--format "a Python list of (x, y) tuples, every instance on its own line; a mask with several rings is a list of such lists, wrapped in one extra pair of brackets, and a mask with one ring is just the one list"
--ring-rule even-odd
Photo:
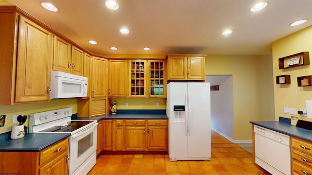
[(210, 83), (169, 83), (166, 114), (170, 160), (210, 160)]

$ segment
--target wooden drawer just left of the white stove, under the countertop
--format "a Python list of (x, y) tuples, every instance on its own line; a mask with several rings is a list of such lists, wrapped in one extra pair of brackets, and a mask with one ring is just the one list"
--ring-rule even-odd
[(40, 152), (40, 165), (44, 165), (55, 159), (62, 153), (68, 152), (68, 138), (59, 143), (50, 146), (46, 150)]

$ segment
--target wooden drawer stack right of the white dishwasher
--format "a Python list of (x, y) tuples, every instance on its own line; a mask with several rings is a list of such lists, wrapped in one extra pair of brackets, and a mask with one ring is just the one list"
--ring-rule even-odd
[(312, 175), (312, 143), (298, 138), (291, 138), (292, 174)]

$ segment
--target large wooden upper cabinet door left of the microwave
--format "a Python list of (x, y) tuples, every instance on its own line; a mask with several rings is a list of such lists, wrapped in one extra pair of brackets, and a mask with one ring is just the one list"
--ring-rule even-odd
[(15, 103), (49, 101), (52, 33), (20, 17)]

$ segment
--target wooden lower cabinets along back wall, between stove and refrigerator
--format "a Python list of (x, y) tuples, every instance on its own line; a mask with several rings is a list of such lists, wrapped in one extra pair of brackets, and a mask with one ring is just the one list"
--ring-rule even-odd
[(104, 119), (103, 125), (104, 121), (113, 125), (104, 126), (103, 144), (107, 146), (102, 152), (168, 151), (167, 119)]

